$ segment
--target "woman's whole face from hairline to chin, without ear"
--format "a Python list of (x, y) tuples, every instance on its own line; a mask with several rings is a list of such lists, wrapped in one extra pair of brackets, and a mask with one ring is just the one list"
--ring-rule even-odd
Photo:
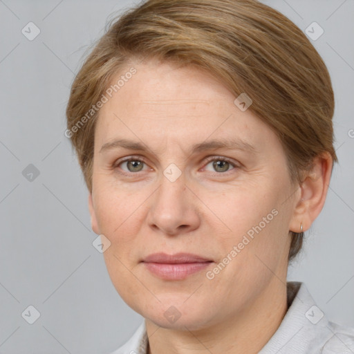
[(205, 328), (286, 277), (295, 187), (275, 133), (212, 76), (135, 67), (97, 120), (93, 231), (109, 239), (109, 276), (133, 310)]

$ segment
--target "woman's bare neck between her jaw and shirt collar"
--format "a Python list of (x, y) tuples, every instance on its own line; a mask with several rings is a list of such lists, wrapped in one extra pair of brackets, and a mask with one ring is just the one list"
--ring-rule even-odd
[(279, 328), (288, 310), (286, 285), (277, 277), (252, 304), (222, 323), (201, 330), (174, 330), (145, 319), (148, 354), (257, 354)]

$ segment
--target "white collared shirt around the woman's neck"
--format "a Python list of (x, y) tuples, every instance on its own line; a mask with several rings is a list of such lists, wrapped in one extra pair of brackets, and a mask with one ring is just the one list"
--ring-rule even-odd
[[(287, 282), (288, 311), (259, 354), (354, 354), (354, 328), (329, 322), (304, 283)], [(145, 320), (111, 354), (147, 354)]]

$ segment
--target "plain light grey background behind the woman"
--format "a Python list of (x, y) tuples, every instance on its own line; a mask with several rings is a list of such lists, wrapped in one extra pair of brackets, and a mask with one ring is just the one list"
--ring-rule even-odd
[[(354, 326), (354, 1), (263, 1), (305, 30), (335, 90), (335, 167), (326, 206), (288, 280), (304, 281), (328, 317)], [(142, 321), (115, 291), (93, 248), (86, 187), (64, 136), (84, 51), (132, 1), (0, 0), (0, 353), (109, 353)], [(41, 30), (29, 41), (21, 29)], [(24, 169), (35, 165), (29, 181)], [(28, 167), (29, 169), (31, 167)], [(40, 317), (28, 324), (29, 306)]]

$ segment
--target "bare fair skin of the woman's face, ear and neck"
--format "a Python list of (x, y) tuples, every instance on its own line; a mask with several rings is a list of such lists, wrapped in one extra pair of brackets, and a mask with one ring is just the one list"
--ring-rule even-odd
[[(111, 242), (104, 252), (111, 281), (145, 317), (149, 353), (258, 353), (287, 311), (288, 232), (300, 232), (301, 223), (308, 230), (321, 211), (330, 155), (315, 160), (301, 186), (292, 183), (274, 131), (250, 109), (241, 111), (214, 77), (156, 60), (134, 67), (136, 75), (102, 106), (95, 130), (88, 206), (93, 231)], [(120, 138), (147, 149), (100, 151)], [(231, 138), (254, 151), (190, 150)], [(132, 156), (144, 160), (142, 170), (120, 163)], [(213, 167), (220, 156), (230, 164)], [(182, 173), (174, 182), (163, 174), (171, 163)], [(207, 279), (272, 209), (277, 216)], [(191, 252), (213, 263), (186, 279), (164, 280), (141, 263), (154, 252)], [(164, 316), (170, 306), (180, 313), (174, 323)]]

